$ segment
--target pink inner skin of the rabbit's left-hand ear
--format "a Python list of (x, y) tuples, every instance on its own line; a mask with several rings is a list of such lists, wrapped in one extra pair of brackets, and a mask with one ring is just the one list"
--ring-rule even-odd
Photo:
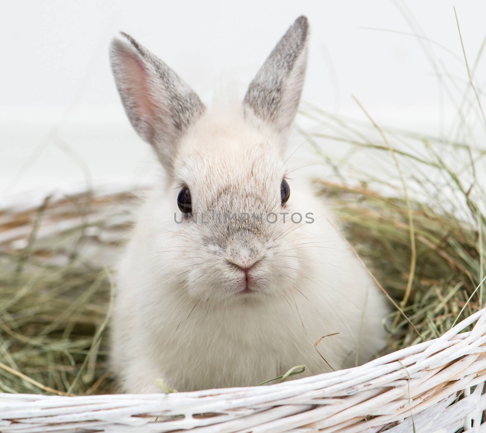
[[(124, 65), (125, 77), (124, 84), (127, 94), (131, 95), (134, 109), (139, 115), (139, 121), (144, 123), (147, 132), (152, 134), (153, 122), (155, 121), (154, 104), (151, 98), (149, 83), (149, 73), (137, 56), (125, 53)], [(150, 131), (150, 132), (149, 132)]]

